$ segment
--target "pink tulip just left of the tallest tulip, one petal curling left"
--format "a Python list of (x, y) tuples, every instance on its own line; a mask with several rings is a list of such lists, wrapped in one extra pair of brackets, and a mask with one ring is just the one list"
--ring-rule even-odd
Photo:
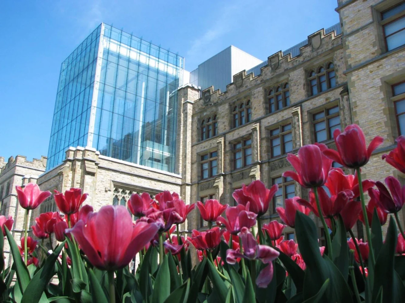
[(306, 188), (324, 185), (333, 162), (322, 154), (326, 149), (325, 144), (315, 143), (301, 147), (298, 157), (288, 154), (287, 160), (296, 172), (284, 172), (283, 177), (290, 177)]

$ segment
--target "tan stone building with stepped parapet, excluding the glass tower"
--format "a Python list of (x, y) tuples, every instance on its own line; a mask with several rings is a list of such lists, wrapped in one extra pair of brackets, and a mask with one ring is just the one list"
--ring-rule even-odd
[[(405, 176), (381, 156), (405, 133), (405, 2), (338, 0), (336, 11), (339, 24), (234, 74), (226, 91), (213, 87), (201, 91), (183, 81), (177, 88), (173, 172), (114, 159), (93, 147), (71, 146), (60, 164), (45, 173), (43, 166), (32, 180), (42, 190), (80, 187), (90, 194), (86, 203), (98, 210), (106, 204), (126, 205), (131, 193), (154, 195), (163, 190), (178, 192), (186, 203), (215, 198), (232, 205), (235, 189), (260, 179), (268, 187), (279, 185), (266, 216), (279, 220), (275, 208), (283, 206), (284, 199), (308, 196), (296, 182), (281, 177), (292, 170), (287, 153), (314, 142), (335, 148), (333, 130), (357, 123), (367, 143), (374, 136), (384, 137), (384, 144), (364, 167), (363, 178), (383, 180), (394, 175), (404, 181)], [(3, 168), (0, 189), (6, 172)], [(14, 215), (15, 202), (7, 203), (3, 213)], [(50, 198), (32, 218), (55, 209)], [(320, 222), (318, 226), (323, 244)], [(363, 237), (358, 227), (361, 224), (355, 233)], [(182, 228), (187, 232), (205, 229), (206, 224), (194, 210)], [(294, 231), (285, 229), (285, 237), (294, 238)]]

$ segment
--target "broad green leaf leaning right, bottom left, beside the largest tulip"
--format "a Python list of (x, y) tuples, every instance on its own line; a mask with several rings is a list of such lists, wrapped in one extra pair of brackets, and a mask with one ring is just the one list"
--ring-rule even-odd
[(63, 242), (46, 259), (44, 266), (34, 275), (23, 292), (21, 303), (48, 302), (44, 290), (55, 274), (55, 262), (64, 246)]

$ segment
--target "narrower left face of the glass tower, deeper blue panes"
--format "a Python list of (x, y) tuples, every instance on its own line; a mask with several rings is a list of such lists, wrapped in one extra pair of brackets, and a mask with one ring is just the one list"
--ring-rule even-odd
[(62, 63), (49, 140), (47, 170), (69, 146), (86, 146), (101, 25)]

